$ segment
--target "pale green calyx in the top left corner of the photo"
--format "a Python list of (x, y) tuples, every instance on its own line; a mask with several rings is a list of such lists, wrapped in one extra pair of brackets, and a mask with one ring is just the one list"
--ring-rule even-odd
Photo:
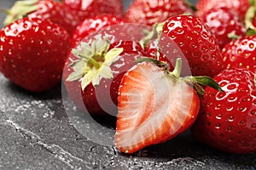
[(27, 14), (37, 10), (38, 1), (39, 0), (17, 1), (11, 9), (1, 8), (0, 10), (7, 14), (7, 17), (3, 21), (4, 26), (9, 25), (15, 20), (24, 18)]

